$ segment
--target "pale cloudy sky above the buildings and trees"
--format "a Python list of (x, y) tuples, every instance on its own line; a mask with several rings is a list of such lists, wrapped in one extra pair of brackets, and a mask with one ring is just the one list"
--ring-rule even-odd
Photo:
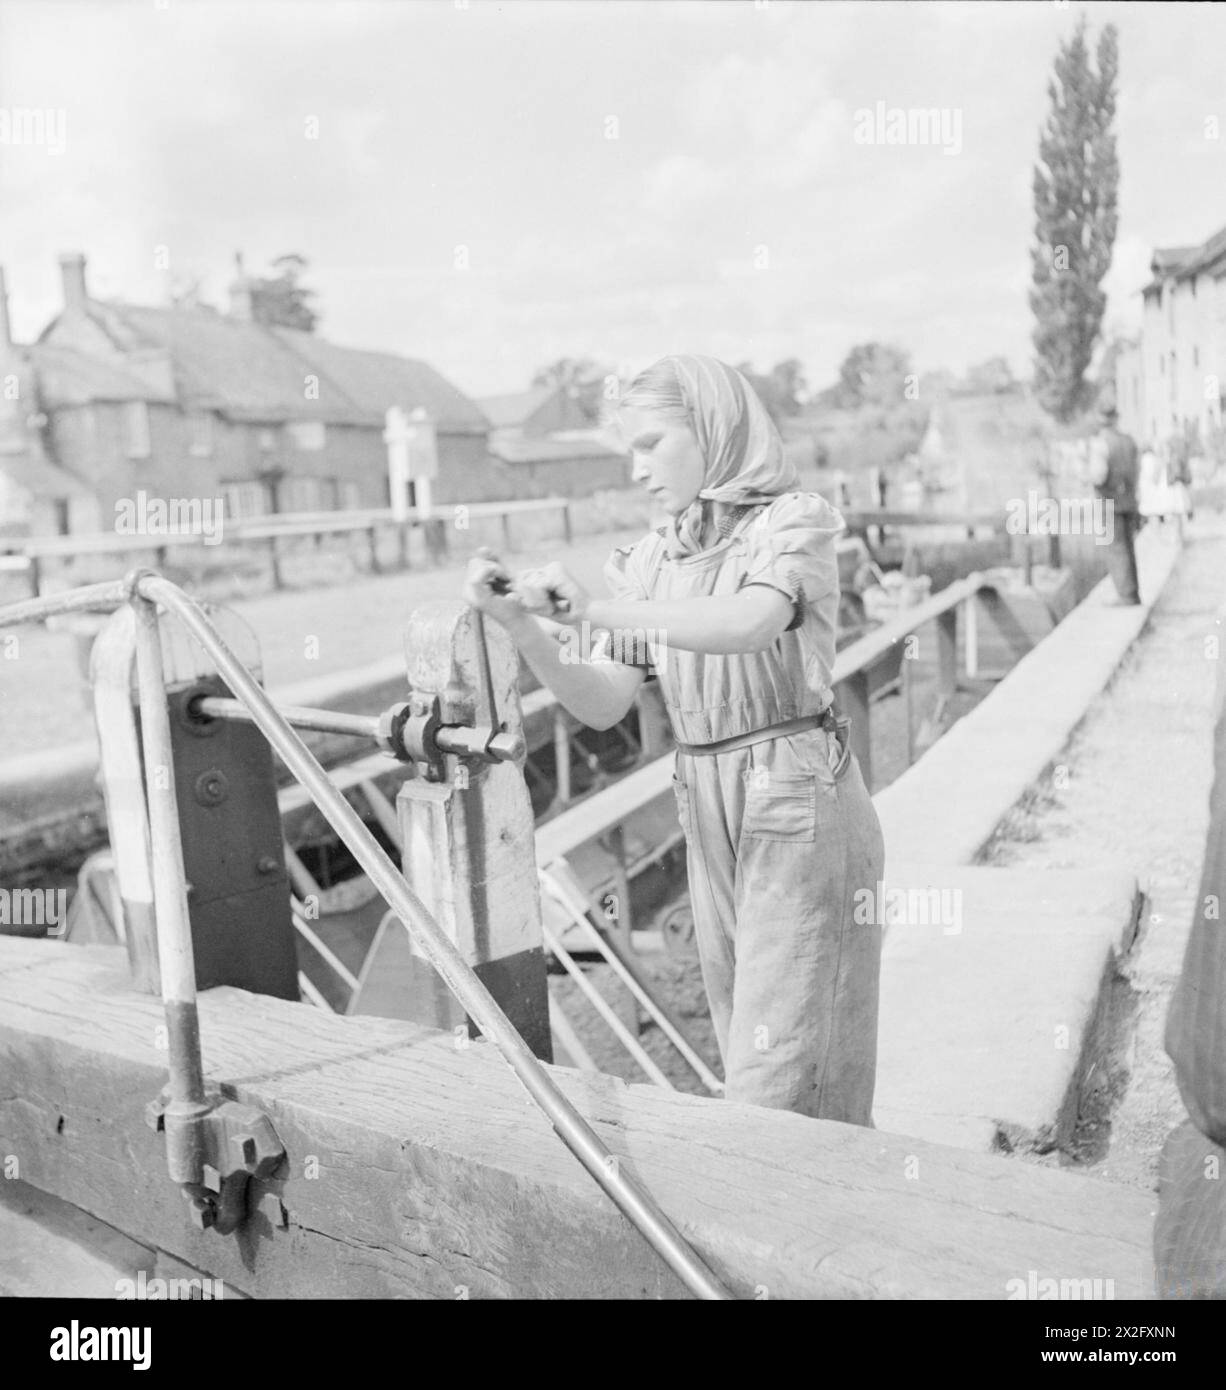
[[(200, 277), (218, 304), (236, 250), (297, 252), (324, 335), (474, 395), (671, 350), (824, 385), (873, 338), (1024, 373), (1031, 164), (1083, 8), (1120, 32), (1127, 328), (1151, 247), (1226, 224), (1226, 7), (0, 0), (0, 115), (65, 122), (63, 150), (0, 139), (14, 327), (58, 307), (64, 250), (99, 297)], [(858, 140), (877, 103), (958, 139)]]

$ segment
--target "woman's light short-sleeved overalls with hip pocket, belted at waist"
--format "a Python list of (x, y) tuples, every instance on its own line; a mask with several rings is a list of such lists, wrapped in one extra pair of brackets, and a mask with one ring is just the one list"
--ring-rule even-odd
[[(660, 532), (614, 552), (606, 577), (621, 598), (767, 584), (796, 602), (799, 624), (763, 652), (653, 649), (678, 741), (709, 744), (828, 705), (841, 525), (822, 498), (788, 493), (696, 555), (669, 559)], [(881, 931), (856, 905), (878, 891), (884, 848), (855, 756), (824, 728), (678, 751), (674, 790), (728, 1099), (872, 1125)]]

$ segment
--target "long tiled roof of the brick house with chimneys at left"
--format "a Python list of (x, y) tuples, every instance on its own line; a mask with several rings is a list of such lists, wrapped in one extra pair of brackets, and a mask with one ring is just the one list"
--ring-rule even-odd
[[(46, 360), (49, 406), (178, 399), (185, 409), (217, 410), (232, 420), (379, 427), (389, 406), (424, 406), (446, 432), (488, 430), (463, 392), (410, 357), (339, 348), (313, 334), (267, 328), (203, 307), (90, 300), (89, 311), (115, 343), (117, 356), (39, 343), (32, 352), (40, 371)], [(172, 391), (167, 379), (153, 379), (153, 363), (142, 363), (142, 356), (161, 359), (164, 378), (170, 364)]]

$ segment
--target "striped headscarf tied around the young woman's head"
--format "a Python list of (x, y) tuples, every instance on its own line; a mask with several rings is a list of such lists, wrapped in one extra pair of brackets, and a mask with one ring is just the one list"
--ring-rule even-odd
[(676, 559), (702, 549), (703, 502), (770, 502), (795, 492), (801, 480), (774, 421), (735, 367), (689, 353), (664, 360), (677, 373), (706, 461), (698, 498), (669, 528), (669, 555)]

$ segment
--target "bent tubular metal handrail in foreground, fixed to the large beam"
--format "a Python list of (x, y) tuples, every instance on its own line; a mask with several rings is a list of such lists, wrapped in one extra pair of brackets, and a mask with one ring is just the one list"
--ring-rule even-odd
[[(196, 638), (229, 689), (247, 706), (252, 721), (260, 728), (285, 766), (306, 787), (314, 803), (366, 870), (384, 901), (414, 938), (423, 955), (438, 970), (481, 1033), (493, 1042), (510, 1065), (566, 1147), (691, 1293), (705, 1300), (730, 1298), (728, 1290), (716, 1280), (655, 1198), (632, 1177), (621, 1172), (621, 1165), (549, 1077), (510, 1019), (499, 1008), (498, 1001), (463, 959), (425, 903), (409, 887), (400, 870), (386, 856), (357, 812), (334, 787), (302, 738), (282, 717), (250, 671), (231, 652), (224, 637), (199, 603), (156, 571), (133, 570), (122, 581), (90, 585), (86, 589), (57, 594), (46, 599), (29, 599), (0, 609), (0, 628), (38, 621), (54, 613), (118, 607), (125, 602), (131, 602), (136, 610), (142, 737), (150, 790), (150, 831), (157, 851), (153, 855), (153, 891), (163, 1001), (167, 1008), (172, 1063), (168, 1120), (172, 1116), (188, 1118), (197, 1111), (204, 1101), (204, 1088), (195, 1008), (196, 979), (186, 883), (174, 795), (170, 716), (161, 669), (161, 646), (157, 635), (156, 605), (158, 603), (174, 613)], [(153, 783), (157, 773), (163, 770), (170, 773), (170, 785), (163, 787), (154, 795)], [(186, 1126), (167, 1125), (171, 1176), (178, 1182), (189, 1182), (192, 1155), (175, 1154), (171, 1150), (171, 1136), (179, 1129), (189, 1133)]]

